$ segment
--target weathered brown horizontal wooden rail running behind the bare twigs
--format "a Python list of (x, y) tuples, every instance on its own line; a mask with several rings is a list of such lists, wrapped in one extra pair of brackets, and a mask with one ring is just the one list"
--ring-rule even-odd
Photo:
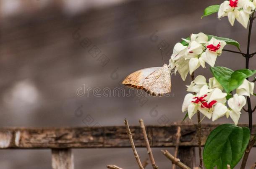
[[(180, 125), (179, 125), (180, 126)], [(210, 131), (218, 125), (202, 125), (202, 145)], [(246, 125), (241, 125), (246, 126)], [(181, 125), (180, 146), (197, 146), (196, 125)], [(256, 125), (253, 126), (253, 129)], [(175, 146), (177, 125), (147, 126), (152, 147)], [(144, 139), (138, 126), (131, 126), (136, 147), (144, 147)], [(130, 147), (125, 126), (77, 127), (77, 128), (3, 128), (0, 129), (1, 149), (29, 148), (101, 148)]]

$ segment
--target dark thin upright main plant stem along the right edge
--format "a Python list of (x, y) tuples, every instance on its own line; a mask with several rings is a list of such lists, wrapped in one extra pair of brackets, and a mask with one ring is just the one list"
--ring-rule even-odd
[[(254, 12), (253, 12), (252, 16), (250, 17), (248, 42), (247, 42), (247, 52), (246, 52), (246, 55), (245, 55), (245, 57), (246, 57), (246, 68), (247, 69), (249, 68), (249, 61), (250, 61), (250, 58), (251, 58), (250, 44), (251, 44), (251, 30), (252, 30), (253, 19), (254, 19), (253, 16), (254, 16)], [(246, 79), (248, 80), (249, 78), (246, 78)], [(251, 108), (251, 98), (247, 96), (246, 99), (247, 99), (248, 116), (249, 116), (249, 129), (250, 129), (250, 131), (252, 131), (252, 125), (253, 125), (252, 114), (253, 114), (253, 110)], [(243, 156), (243, 161), (242, 161), (240, 169), (245, 169), (249, 153), (250, 153), (251, 148), (253, 147), (253, 144), (255, 143), (255, 141), (256, 141), (256, 137), (253, 136), (253, 139), (250, 141), (250, 143), (248, 144), (248, 146), (246, 148), (246, 151), (245, 151), (245, 154)]]

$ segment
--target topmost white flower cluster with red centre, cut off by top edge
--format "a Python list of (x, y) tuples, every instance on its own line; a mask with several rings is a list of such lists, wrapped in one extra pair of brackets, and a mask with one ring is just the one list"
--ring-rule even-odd
[(250, 15), (256, 8), (256, 0), (225, 0), (219, 7), (218, 18), (228, 17), (233, 26), (235, 19), (247, 28)]

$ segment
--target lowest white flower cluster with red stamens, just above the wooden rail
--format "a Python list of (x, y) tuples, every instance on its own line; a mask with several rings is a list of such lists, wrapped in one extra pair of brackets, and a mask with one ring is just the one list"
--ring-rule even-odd
[(240, 111), (246, 105), (245, 96), (253, 94), (253, 88), (254, 83), (245, 79), (243, 84), (236, 89), (236, 93), (227, 101), (227, 93), (223, 92), (223, 87), (216, 78), (209, 78), (209, 83), (207, 83), (206, 78), (199, 75), (187, 86), (187, 91), (196, 94), (188, 93), (185, 96), (182, 112), (188, 111), (188, 117), (191, 119), (199, 111), (212, 121), (226, 115), (238, 124)]

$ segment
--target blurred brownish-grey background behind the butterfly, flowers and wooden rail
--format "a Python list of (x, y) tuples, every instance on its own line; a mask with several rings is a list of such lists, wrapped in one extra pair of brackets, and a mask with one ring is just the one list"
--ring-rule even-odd
[[(245, 51), (248, 30), (242, 25), (232, 27), (217, 14), (201, 19), (204, 8), (222, 2), (0, 0), (0, 126), (112, 126), (123, 125), (124, 118), (131, 125), (138, 125), (140, 118), (147, 125), (181, 121), (189, 77), (184, 82), (172, 76), (170, 97), (97, 97), (92, 91), (87, 96), (86, 90), (97, 88), (102, 94), (103, 88), (123, 87), (120, 82), (134, 71), (162, 66), (159, 48), (168, 62), (175, 43), (191, 33), (233, 38)], [(253, 26), (251, 52), (256, 51)], [(245, 59), (224, 51), (216, 65), (244, 68)], [(255, 58), (250, 67), (256, 68)], [(210, 78), (209, 66), (199, 68), (198, 74)], [(255, 105), (255, 98), (252, 101)], [(232, 121), (223, 117), (214, 123)], [(248, 123), (245, 112), (240, 123)], [(170, 167), (160, 149), (153, 151), (159, 168)], [(138, 152), (146, 159), (145, 149)], [(131, 149), (75, 149), (74, 156), (76, 169), (104, 169), (107, 164), (137, 168)], [(50, 167), (50, 150), (0, 151), (1, 169)]]

